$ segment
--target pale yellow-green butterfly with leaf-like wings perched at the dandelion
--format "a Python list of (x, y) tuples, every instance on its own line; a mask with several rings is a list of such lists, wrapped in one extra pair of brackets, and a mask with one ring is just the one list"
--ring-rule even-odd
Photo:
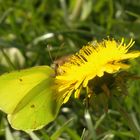
[(37, 66), (0, 76), (0, 110), (11, 126), (26, 132), (53, 121), (62, 102), (55, 99), (54, 70)]

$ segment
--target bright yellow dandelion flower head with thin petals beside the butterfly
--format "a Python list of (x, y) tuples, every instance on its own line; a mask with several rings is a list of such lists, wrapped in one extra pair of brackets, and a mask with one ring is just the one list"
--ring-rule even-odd
[(89, 80), (96, 76), (102, 77), (105, 72), (112, 74), (128, 68), (129, 66), (124, 64), (123, 60), (140, 56), (140, 52), (128, 52), (133, 44), (132, 39), (128, 45), (124, 43), (124, 39), (121, 42), (108, 39), (84, 46), (58, 67), (59, 73), (56, 76), (58, 98), (63, 99), (65, 103), (72, 92), (75, 97), (78, 97), (82, 87), (86, 87)]

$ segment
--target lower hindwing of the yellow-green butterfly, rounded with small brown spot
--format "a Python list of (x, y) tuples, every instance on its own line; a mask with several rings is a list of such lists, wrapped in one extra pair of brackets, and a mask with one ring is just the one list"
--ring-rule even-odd
[(42, 81), (21, 100), (14, 112), (8, 115), (13, 128), (37, 130), (55, 119), (62, 102), (55, 99), (52, 84), (52, 79)]

